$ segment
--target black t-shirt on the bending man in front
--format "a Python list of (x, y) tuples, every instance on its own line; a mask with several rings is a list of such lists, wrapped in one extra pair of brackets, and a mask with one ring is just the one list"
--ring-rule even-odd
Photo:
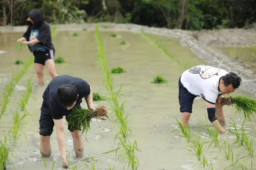
[(79, 96), (74, 107), (80, 105), (80, 103), (82, 103), (82, 98), (90, 94), (90, 85), (82, 78), (68, 75), (54, 77), (43, 94), (43, 105), (47, 105), (47, 107), (50, 109), (50, 114), (52, 114), (53, 119), (61, 119), (63, 116), (66, 116), (72, 112), (72, 109), (68, 111), (59, 103), (57, 89), (61, 85), (75, 86)]

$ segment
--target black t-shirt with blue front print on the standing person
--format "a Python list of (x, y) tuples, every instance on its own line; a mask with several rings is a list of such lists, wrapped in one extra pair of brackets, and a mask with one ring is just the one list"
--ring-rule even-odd
[(35, 45), (28, 45), (31, 52), (54, 49), (50, 26), (46, 21), (43, 21), (42, 26), (38, 29), (35, 29), (33, 26), (27, 27), (27, 31), (23, 34), (23, 37), (25, 37), (27, 41), (34, 39), (38, 39), (40, 41)]

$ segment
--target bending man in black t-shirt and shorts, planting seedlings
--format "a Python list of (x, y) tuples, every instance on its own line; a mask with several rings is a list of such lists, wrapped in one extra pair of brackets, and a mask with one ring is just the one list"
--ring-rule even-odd
[[(81, 78), (68, 75), (56, 76), (50, 81), (43, 94), (43, 103), (39, 119), (39, 134), (41, 136), (40, 149), (43, 157), (51, 154), (50, 135), (55, 125), (57, 140), (59, 144), (63, 167), (67, 168), (66, 147), (64, 138), (64, 119), (74, 108), (81, 108), (82, 98), (86, 100), (87, 106), (91, 110), (93, 107), (93, 91), (90, 85)], [(83, 139), (81, 130), (71, 128), (74, 150), (77, 158), (83, 157)]]

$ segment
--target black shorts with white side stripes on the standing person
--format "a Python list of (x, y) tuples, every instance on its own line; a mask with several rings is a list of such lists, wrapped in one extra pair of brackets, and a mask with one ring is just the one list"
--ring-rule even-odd
[(54, 59), (55, 49), (45, 49), (45, 51), (34, 51), (35, 57), (34, 63), (45, 65), (45, 61), (48, 59)]

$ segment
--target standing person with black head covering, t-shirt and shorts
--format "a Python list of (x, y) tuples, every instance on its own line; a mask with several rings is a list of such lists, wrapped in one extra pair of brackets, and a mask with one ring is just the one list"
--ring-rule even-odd
[(52, 44), (50, 26), (38, 9), (33, 9), (29, 12), (27, 24), (27, 31), (17, 42), (23, 42), (25, 45), (28, 45), (29, 50), (33, 53), (38, 85), (43, 85), (45, 66), (52, 78), (57, 76), (54, 65), (55, 49)]

